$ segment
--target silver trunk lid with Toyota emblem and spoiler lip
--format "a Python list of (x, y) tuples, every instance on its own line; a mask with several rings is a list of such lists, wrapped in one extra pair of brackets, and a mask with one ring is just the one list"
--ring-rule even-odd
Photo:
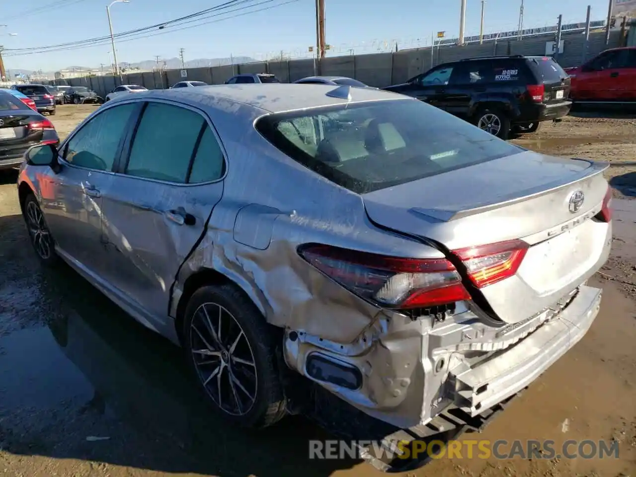
[[(611, 226), (592, 220), (607, 191), (606, 167), (522, 151), (362, 197), (373, 222), (429, 239), (448, 256), (466, 247), (527, 242), (515, 275), (473, 294), (514, 323), (555, 305), (607, 259)], [(583, 202), (570, 209), (575, 193)]]

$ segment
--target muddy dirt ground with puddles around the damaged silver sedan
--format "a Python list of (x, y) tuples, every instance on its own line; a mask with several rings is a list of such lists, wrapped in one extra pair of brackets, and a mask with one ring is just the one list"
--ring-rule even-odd
[[(62, 106), (68, 134), (95, 106)], [(636, 477), (636, 116), (577, 114), (513, 139), (525, 148), (611, 162), (612, 256), (581, 343), (478, 436), (618, 441), (619, 458), (441, 459), (409, 477)], [(29, 245), (15, 174), (0, 178), (0, 475), (379, 475), (350, 460), (308, 460), (328, 439), (301, 417), (259, 432), (207, 410), (174, 346), (142, 328), (67, 268), (41, 269)]]

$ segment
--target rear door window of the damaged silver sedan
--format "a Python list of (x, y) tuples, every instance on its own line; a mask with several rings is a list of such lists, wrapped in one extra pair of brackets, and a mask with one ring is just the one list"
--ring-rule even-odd
[(190, 109), (150, 102), (137, 127), (126, 174), (186, 183), (203, 125), (204, 118)]

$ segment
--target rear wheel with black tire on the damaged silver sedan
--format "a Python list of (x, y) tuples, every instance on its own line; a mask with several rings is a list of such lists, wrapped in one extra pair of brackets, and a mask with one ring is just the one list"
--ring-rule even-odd
[[(219, 321), (221, 346), (210, 332), (219, 336)], [(242, 427), (267, 427), (284, 417), (275, 329), (243, 291), (233, 284), (198, 289), (188, 301), (182, 336), (188, 364), (219, 415)]]

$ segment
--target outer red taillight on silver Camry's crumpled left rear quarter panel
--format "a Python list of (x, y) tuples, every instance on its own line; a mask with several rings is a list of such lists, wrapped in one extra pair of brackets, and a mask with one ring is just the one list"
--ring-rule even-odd
[(381, 307), (427, 308), (471, 298), (455, 266), (443, 258), (399, 258), (317, 244), (298, 252), (352, 293)]

